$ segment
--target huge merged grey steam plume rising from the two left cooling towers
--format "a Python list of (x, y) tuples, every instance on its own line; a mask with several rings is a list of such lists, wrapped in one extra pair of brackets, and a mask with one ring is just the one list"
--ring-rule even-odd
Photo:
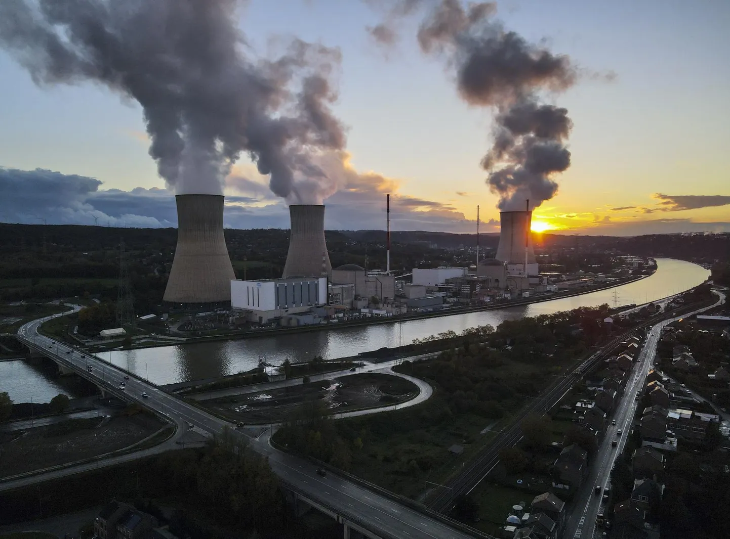
[(293, 40), (275, 61), (249, 58), (240, 3), (1, 0), (0, 46), (39, 85), (100, 82), (138, 101), (150, 155), (177, 193), (221, 193), (246, 152), (274, 193), (313, 203), (326, 193), (312, 156), (345, 145), (329, 109), (339, 51)]

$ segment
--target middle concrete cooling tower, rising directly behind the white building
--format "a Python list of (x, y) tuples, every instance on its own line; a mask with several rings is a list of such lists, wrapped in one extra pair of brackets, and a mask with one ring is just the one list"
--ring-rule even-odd
[(289, 206), (291, 237), (283, 277), (328, 276), (332, 270), (324, 241), (324, 206)]

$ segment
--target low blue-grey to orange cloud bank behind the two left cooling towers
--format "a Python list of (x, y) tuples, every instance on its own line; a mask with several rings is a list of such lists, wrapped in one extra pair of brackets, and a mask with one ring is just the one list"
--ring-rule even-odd
[[(326, 228), (385, 228), (385, 195), (391, 193), (393, 230), (471, 232), (475, 220), (448, 203), (399, 193), (399, 182), (373, 171), (359, 172), (346, 152), (322, 156), (317, 166), (342, 189), (326, 201)], [(253, 166), (239, 165), (226, 179), (224, 222), (228, 228), (288, 228), (286, 203)], [(177, 226), (174, 196), (164, 189), (103, 189), (96, 178), (37, 169), (0, 168), (0, 221), (158, 228)], [(491, 227), (491, 228), (490, 228)], [(483, 221), (485, 232), (499, 229)]]

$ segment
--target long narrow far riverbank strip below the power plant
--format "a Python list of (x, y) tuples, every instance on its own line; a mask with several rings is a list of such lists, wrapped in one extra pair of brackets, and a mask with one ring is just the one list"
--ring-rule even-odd
[[(314, 333), (318, 331), (329, 331), (338, 329), (351, 329), (353, 327), (370, 326), (370, 325), (383, 325), (383, 324), (396, 324), (400, 322), (411, 322), (412, 320), (438, 318), (438, 317), (452, 317), (459, 314), (469, 314), (482, 311), (494, 311), (496, 309), (507, 309), (509, 307), (519, 307), (525, 305), (531, 305), (532, 303), (543, 303), (545, 301), (561, 300), (565, 298), (575, 298), (576, 296), (590, 294), (591, 292), (600, 292), (602, 290), (609, 290), (615, 287), (621, 287), (632, 282), (637, 282), (647, 277), (653, 276), (656, 273), (658, 266), (654, 265), (653, 270), (650, 274), (639, 275), (631, 277), (630, 279), (623, 279), (620, 282), (613, 282), (610, 284), (604, 284), (597, 287), (585, 288), (576, 292), (567, 292), (561, 294), (545, 293), (531, 298), (524, 298), (520, 300), (507, 300), (500, 301), (499, 303), (493, 303), (490, 305), (480, 305), (473, 307), (465, 307), (461, 309), (443, 309), (441, 311), (434, 311), (429, 313), (413, 313), (413, 314), (402, 314), (397, 317), (377, 317), (352, 320), (350, 322), (337, 322), (333, 324), (319, 324), (319, 325), (305, 325), (299, 327), (277, 327), (274, 329), (267, 330), (255, 330), (255, 331), (236, 331), (229, 333), (218, 333), (215, 335), (205, 335), (197, 337), (170, 338), (169, 341), (160, 341), (152, 343), (148, 337), (145, 337), (145, 343), (143, 346), (135, 346), (133, 342), (132, 346), (128, 349), (148, 349), (158, 348), (161, 346), (174, 346), (175, 344), (193, 344), (193, 343), (204, 343), (210, 341), (234, 341), (237, 339), (252, 339), (252, 338), (264, 338), (273, 336), (283, 336), (291, 334), (301, 333)], [(161, 337), (161, 339), (166, 337)], [(96, 354), (99, 352), (107, 352), (109, 349), (103, 346), (91, 346), (88, 352)]]

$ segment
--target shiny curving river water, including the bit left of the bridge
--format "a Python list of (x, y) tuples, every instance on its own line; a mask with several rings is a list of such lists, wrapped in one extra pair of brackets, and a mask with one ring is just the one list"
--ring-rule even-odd
[[(599, 292), (526, 306), (337, 330), (119, 350), (101, 353), (99, 357), (127, 368), (156, 384), (172, 384), (247, 371), (254, 368), (259, 360), (277, 365), (286, 358), (292, 362), (307, 361), (315, 355), (334, 359), (379, 349), (382, 346), (409, 344), (415, 338), (424, 338), (448, 330), (461, 333), (467, 327), (477, 325), (490, 324), (496, 327), (506, 319), (569, 311), (577, 307), (599, 306), (603, 303), (612, 306), (615, 295), (618, 296), (616, 302), (619, 306), (645, 303), (688, 290), (702, 283), (710, 275), (710, 271), (683, 260), (659, 258), (656, 261), (658, 264), (656, 273), (646, 279)], [(15, 376), (17, 375), (14, 374), (12, 366), (0, 363), (0, 391), (15, 392), (13, 387)], [(27, 371), (23, 371), (20, 376), (25, 380), (24, 387), (28, 387)], [(50, 399), (58, 393), (53, 387), (44, 389), (46, 384), (53, 385), (53, 382), (46, 380), (42, 373), (38, 373), (35, 385), (31, 384), (37, 402), (43, 402), (45, 398)], [(23, 393), (27, 394), (28, 391)]]

